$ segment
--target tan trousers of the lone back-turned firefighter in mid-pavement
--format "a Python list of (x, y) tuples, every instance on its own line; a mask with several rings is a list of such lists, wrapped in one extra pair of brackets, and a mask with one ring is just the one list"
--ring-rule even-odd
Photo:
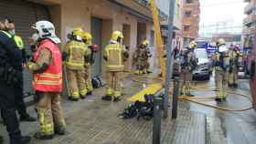
[(107, 88), (106, 96), (113, 96), (115, 98), (121, 97), (122, 95), (122, 71), (108, 71), (107, 72)]

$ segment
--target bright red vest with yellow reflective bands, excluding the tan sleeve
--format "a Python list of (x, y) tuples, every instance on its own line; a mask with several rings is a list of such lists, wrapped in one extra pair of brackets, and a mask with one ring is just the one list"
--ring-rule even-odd
[(62, 91), (62, 59), (59, 46), (46, 39), (41, 42), (37, 52), (33, 55), (33, 60), (37, 61), (40, 51), (48, 48), (51, 52), (51, 62), (43, 73), (35, 73), (33, 86), (35, 90), (42, 92), (61, 92)]

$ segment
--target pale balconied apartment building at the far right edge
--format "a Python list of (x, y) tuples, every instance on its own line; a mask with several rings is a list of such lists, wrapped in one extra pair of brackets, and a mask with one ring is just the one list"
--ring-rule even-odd
[(244, 8), (247, 15), (243, 19), (243, 46), (251, 49), (256, 35), (256, 0), (244, 0), (248, 5)]

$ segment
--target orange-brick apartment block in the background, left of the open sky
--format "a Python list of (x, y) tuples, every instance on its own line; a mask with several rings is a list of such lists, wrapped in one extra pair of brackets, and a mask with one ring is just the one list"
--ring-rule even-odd
[(182, 8), (183, 46), (188, 46), (189, 43), (198, 36), (200, 2), (199, 0), (183, 0)]

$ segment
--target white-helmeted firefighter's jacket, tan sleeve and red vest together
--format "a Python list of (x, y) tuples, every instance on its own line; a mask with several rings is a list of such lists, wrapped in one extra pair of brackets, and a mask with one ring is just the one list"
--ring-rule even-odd
[(62, 59), (59, 46), (49, 39), (39, 43), (28, 68), (33, 71), (33, 87), (41, 92), (62, 91)]

